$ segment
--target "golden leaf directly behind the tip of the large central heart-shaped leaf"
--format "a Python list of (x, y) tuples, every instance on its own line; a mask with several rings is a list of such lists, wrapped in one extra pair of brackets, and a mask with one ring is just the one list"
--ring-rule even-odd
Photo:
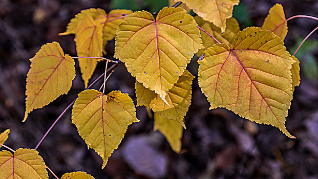
[(137, 103), (149, 106), (164, 118), (178, 121), (185, 128), (183, 118), (191, 104), (193, 79), (194, 76), (185, 70), (182, 76), (179, 77), (178, 82), (167, 92), (167, 103), (159, 95), (136, 82)]

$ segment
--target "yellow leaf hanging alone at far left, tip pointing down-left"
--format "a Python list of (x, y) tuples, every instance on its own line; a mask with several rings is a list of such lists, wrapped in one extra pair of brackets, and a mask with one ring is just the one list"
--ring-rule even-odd
[(28, 114), (67, 94), (75, 77), (74, 60), (63, 53), (57, 42), (47, 43), (30, 59), (27, 77), (26, 112)]

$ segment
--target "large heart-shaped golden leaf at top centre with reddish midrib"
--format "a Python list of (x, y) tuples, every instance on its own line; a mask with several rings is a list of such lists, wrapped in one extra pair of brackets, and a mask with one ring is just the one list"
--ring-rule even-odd
[(162, 99), (203, 48), (197, 23), (185, 13), (165, 7), (155, 20), (151, 13), (137, 11), (126, 16), (116, 31), (114, 57)]

